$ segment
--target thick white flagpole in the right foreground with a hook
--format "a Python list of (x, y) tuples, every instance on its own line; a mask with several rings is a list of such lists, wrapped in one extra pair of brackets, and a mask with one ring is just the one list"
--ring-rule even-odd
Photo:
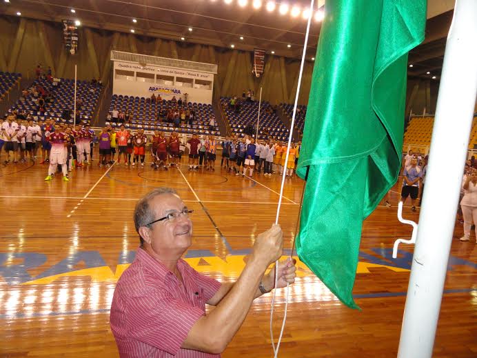
[(407, 288), (400, 358), (432, 357), (477, 95), (476, 14), (476, 0), (456, 1), (445, 48), (425, 195)]

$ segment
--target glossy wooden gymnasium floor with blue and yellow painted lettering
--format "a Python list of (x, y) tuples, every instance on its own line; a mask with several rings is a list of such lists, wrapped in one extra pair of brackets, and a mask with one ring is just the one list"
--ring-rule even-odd
[[(73, 171), (68, 183), (59, 175), (43, 181), (46, 170), (38, 163), (0, 168), (0, 357), (118, 356), (110, 304), (139, 244), (134, 204), (148, 190), (172, 186), (195, 210), (187, 261), (221, 281), (239, 275), (254, 237), (274, 222), (280, 190), (276, 175), (235, 177), (219, 166), (155, 172), (93, 165)], [(286, 180), (285, 248), (292, 245), (301, 190), (301, 179)], [(300, 264), (280, 357), (396, 357), (412, 257), (412, 247), (403, 246), (400, 258), (391, 258), (394, 240), (411, 232), (396, 219), (397, 201), (392, 192), (392, 208), (379, 206), (363, 226), (354, 288), (361, 312), (340, 304)], [(417, 220), (418, 212), (407, 207), (404, 216)], [(477, 249), (458, 241), (462, 233), (457, 223), (434, 357), (477, 357)], [(256, 300), (223, 357), (272, 357), (270, 301), (270, 295)]]

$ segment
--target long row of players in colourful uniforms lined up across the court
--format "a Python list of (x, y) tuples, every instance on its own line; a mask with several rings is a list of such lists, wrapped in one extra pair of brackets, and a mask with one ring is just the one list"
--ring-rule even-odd
[(47, 119), (33, 121), (16, 119), (8, 116), (1, 125), (0, 155), (3, 148), (6, 155), (4, 165), (9, 163), (36, 161), (41, 150), (41, 162), (48, 163), (50, 181), (61, 167), (63, 180), (69, 181), (68, 172), (74, 168), (82, 168), (92, 163), (95, 142), (99, 143), (98, 166), (108, 168), (113, 163), (121, 166), (145, 165), (146, 155), (150, 154), (150, 166), (154, 170), (168, 170), (179, 167), (183, 155), (188, 153), (189, 170), (214, 171), (217, 151), (221, 150), (221, 168), (236, 176), (250, 176), (254, 170), (265, 176), (285, 174), (292, 177), (298, 162), (301, 142), (292, 143), (287, 163), (285, 163), (287, 146), (280, 141), (255, 142), (247, 135), (243, 138), (226, 137), (223, 141), (213, 135), (192, 135), (187, 138), (172, 132), (168, 137), (156, 131), (146, 135), (144, 130), (132, 132), (122, 125), (116, 131), (110, 126), (102, 128), (96, 135), (89, 125), (71, 126), (54, 123)]

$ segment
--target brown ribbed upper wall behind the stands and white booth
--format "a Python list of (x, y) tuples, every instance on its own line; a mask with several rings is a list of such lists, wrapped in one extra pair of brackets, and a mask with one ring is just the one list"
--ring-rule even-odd
[[(73, 78), (74, 65), (77, 64), (79, 79), (101, 77), (105, 82), (112, 71), (110, 50), (119, 50), (217, 63), (219, 73), (214, 80), (214, 97), (241, 96), (244, 89), (252, 88), (258, 99), (261, 86), (262, 98), (272, 103), (290, 103), (295, 97), (298, 59), (267, 54), (264, 74), (256, 78), (252, 75), (253, 54), (247, 51), (81, 26), (78, 54), (70, 56), (63, 50), (60, 23), (2, 15), (0, 28), (0, 69), (21, 72), (25, 77), (27, 72), (32, 77), (34, 68), (42, 63), (45, 67), (51, 66), (56, 77)], [(301, 104), (307, 103), (313, 65), (312, 62), (305, 65)]]

